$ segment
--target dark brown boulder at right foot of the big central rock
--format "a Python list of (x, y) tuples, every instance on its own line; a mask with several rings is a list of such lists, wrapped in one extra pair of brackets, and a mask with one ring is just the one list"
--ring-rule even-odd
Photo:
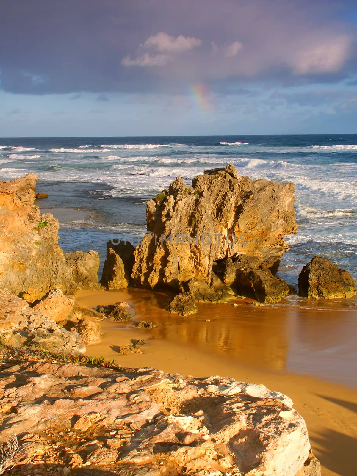
[(289, 293), (287, 283), (273, 276), (268, 269), (241, 270), (232, 288), (241, 296), (268, 304), (279, 302)]

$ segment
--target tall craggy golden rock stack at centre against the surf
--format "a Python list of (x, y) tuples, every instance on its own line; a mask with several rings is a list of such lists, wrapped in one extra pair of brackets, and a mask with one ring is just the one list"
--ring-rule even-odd
[[(232, 165), (186, 185), (177, 178), (147, 204), (148, 232), (135, 250), (132, 278), (153, 288), (191, 278), (214, 283), (217, 260), (246, 255), (274, 273), (297, 232), (294, 185), (240, 177)], [(172, 237), (172, 239), (170, 239)]]

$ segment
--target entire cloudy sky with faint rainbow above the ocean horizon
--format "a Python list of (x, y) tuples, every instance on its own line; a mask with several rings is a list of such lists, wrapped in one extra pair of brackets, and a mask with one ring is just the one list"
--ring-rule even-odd
[(1, 0), (0, 137), (357, 133), (351, 0)]

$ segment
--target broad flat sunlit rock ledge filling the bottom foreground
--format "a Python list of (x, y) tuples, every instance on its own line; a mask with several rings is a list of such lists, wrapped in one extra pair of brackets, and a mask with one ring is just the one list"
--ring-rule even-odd
[(314, 474), (303, 418), (263, 385), (28, 360), (0, 364), (0, 441), (21, 435), (16, 474), (40, 473), (36, 455), (53, 473)]

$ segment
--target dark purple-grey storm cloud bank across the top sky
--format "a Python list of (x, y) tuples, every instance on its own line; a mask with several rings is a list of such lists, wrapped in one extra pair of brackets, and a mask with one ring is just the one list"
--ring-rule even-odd
[[(182, 92), (356, 73), (349, 1), (2, 0), (1, 88)], [(73, 96), (73, 98), (76, 96)]]

